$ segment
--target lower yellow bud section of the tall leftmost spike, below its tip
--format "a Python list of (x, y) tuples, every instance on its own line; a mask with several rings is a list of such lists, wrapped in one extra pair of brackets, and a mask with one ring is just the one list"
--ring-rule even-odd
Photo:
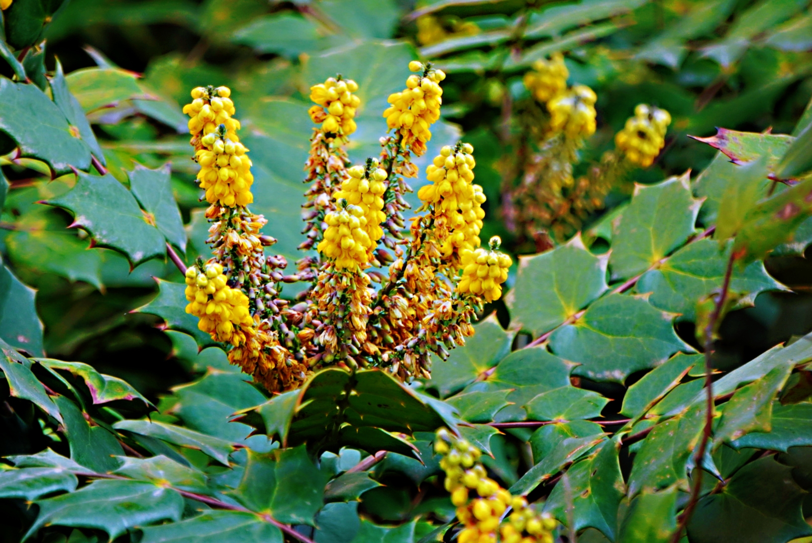
[(205, 189), (206, 202), (227, 207), (253, 202), (251, 159), (245, 146), (228, 137), (224, 124), (218, 126), (217, 132), (202, 137), (201, 144), (203, 147), (197, 150), (195, 158), (201, 165), (197, 179), (201, 189)]

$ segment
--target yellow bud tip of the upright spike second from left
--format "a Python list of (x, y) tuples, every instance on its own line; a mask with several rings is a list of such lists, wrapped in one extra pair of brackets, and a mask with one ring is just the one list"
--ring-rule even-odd
[(310, 99), (318, 105), (308, 110), (314, 123), (322, 124), (322, 132), (349, 136), (356, 131), (356, 109), (361, 98), (353, 93), (358, 84), (351, 79), (330, 77), (324, 83), (310, 87)]

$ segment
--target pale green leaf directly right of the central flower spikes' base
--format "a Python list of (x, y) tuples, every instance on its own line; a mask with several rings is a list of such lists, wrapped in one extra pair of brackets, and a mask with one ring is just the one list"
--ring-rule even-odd
[(513, 332), (506, 332), (495, 314), (488, 315), (473, 328), (476, 333), (465, 340), (463, 347), (451, 350), (451, 356), (445, 361), (434, 360), (431, 380), (426, 386), (436, 389), (440, 397), (458, 392), (510, 352)]

